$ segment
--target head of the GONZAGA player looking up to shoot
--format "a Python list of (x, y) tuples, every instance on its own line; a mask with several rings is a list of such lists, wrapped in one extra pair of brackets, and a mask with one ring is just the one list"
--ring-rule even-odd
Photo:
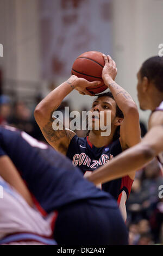
[[(111, 113), (111, 129), (116, 131), (117, 126), (120, 126), (123, 120), (123, 113), (121, 109), (117, 106), (111, 92), (97, 95), (97, 98), (93, 101), (91, 108), (92, 114), (95, 114), (95, 118), (93, 118), (93, 120), (95, 121), (98, 116), (100, 121), (102, 117), (104, 119), (104, 125), (106, 126), (106, 114), (108, 111)], [(102, 115), (97, 115), (97, 113), (101, 113)]]

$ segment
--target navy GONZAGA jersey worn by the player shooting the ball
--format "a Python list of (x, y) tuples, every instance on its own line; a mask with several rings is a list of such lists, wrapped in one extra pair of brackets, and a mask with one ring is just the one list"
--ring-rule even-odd
[[(88, 137), (79, 138), (76, 135), (70, 142), (67, 156), (72, 160), (74, 166), (78, 166), (83, 174), (86, 174), (86, 172), (93, 172), (93, 170), (107, 164), (120, 153), (122, 153), (122, 148), (119, 139), (105, 147), (96, 148)], [(109, 192), (119, 202), (122, 191), (126, 192), (128, 198), (132, 184), (133, 180), (126, 176), (102, 184), (102, 190)]]

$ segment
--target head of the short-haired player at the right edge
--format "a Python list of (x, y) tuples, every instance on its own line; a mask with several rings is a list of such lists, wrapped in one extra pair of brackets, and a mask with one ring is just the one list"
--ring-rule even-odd
[(140, 108), (153, 110), (154, 97), (163, 96), (163, 57), (147, 59), (137, 73), (137, 80)]

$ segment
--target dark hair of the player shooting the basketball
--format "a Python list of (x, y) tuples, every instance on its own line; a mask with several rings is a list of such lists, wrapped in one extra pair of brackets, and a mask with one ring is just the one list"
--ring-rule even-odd
[[(112, 95), (111, 92), (97, 94), (96, 96), (97, 96), (97, 99), (99, 99), (99, 97), (108, 96), (108, 97), (111, 97), (111, 99), (115, 100), (114, 96)], [(118, 107), (117, 103), (116, 103), (116, 117), (124, 118), (124, 115), (123, 115), (121, 109)], [(87, 131), (86, 136), (89, 136), (89, 133), (90, 133), (90, 131)], [(113, 141), (116, 141), (116, 139), (118, 139), (119, 137), (120, 137), (120, 125), (117, 126), (117, 129), (116, 129), (116, 131), (114, 133), (114, 136), (113, 136)]]

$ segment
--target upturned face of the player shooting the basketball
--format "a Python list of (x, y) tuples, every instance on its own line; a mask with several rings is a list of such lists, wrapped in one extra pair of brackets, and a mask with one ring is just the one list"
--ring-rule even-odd
[[(109, 96), (102, 96), (95, 100), (91, 108), (92, 112), (92, 126), (95, 127), (95, 122), (100, 125), (108, 125), (107, 113), (111, 114), (111, 124), (116, 123), (116, 102)], [(108, 114), (109, 114), (108, 113)]]

